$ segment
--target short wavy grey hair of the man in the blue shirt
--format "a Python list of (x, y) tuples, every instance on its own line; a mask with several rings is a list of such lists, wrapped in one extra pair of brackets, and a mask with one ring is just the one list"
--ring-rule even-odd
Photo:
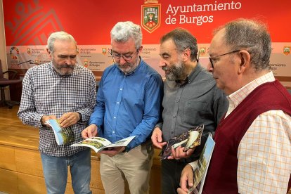
[(141, 26), (134, 24), (133, 22), (117, 22), (112, 28), (111, 32), (111, 43), (112, 41), (126, 42), (130, 38), (134, 39), (134, 46), (136, 49), (141, 47), (141, 41), (143, 34), (141, 32)]

